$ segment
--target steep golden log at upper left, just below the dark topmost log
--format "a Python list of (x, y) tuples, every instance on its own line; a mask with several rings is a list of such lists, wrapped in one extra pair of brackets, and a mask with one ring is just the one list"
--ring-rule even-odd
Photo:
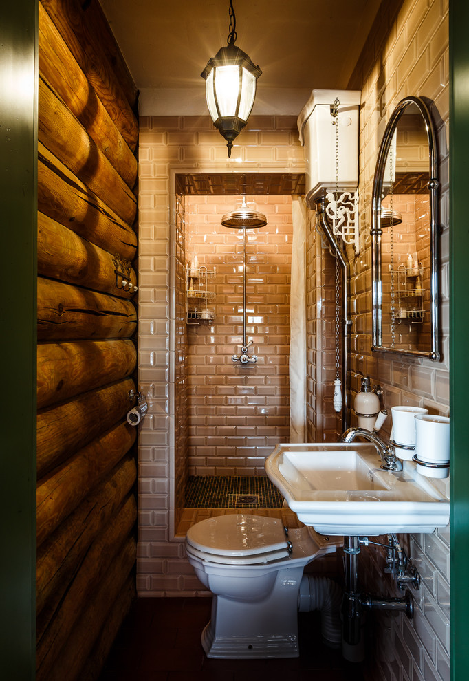
[(137, 179), (137, 159), (41, 3), (39, 3), (39, 72), (78, 118), (125, 184), (133, 188)]

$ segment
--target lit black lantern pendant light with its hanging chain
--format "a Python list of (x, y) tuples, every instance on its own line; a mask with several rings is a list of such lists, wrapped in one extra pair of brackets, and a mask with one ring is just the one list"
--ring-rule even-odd
[(228, 157), (233, 140), (239, 135), (250, 116), (256, 96), (256, 81), (261, 75), (246, 52), (236, 47), (236, 17), (230, 0), (230, 32), (227, 47), (221, 49), (201, 73), (205, 79), (208, 111), (213, 125), (226, 139)]

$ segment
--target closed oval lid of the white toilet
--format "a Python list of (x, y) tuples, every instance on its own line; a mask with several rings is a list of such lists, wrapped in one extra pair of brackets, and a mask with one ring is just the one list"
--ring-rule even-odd
[(214, 556), (254, 557), (273, 552), (288, 555), (282, 521), (247, 513), (202, 520), (188, 530), (186, 542)]

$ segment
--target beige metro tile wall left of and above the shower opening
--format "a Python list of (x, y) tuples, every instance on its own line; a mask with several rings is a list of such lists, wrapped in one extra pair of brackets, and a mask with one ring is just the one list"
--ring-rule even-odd
[(139, 389), (149, 396), (149, 414), (139, 433), (137, 587), (140, 596), (195, 595), (200, 584), (182, 539), (173, 538), (185, 474), (175, 457), (178, 391), (184, 400), (176, 364), (186, 361), (176, 340), (174, 173), (302, 173), (303, 149), (296, 116), (251, 116), (230, 161), (209, 116), (143, 116), (139, 155)]

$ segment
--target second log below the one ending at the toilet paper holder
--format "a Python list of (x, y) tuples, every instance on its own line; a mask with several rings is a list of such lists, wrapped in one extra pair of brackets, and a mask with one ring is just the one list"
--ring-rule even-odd
[(36, 609), (57, 607), (98, 532), (107, 525), (137, 477), (132, 456), (124, 457), (39, 546), (36, 562)]

